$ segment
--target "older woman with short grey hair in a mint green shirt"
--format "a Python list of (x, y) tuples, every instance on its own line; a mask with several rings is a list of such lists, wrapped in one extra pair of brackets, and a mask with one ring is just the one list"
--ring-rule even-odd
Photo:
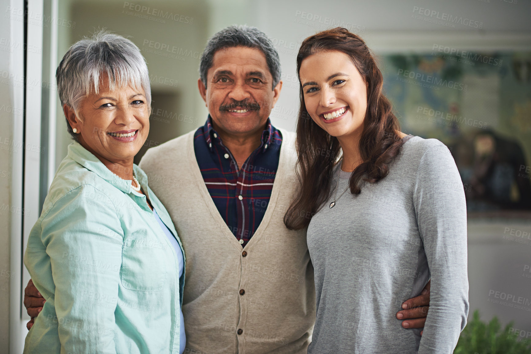
[(96, 33), (57, 68), (74, 142), (24, 264), (46, 299), (24, 353), (182, 353), (184, 252), (133, 164), (149, 133), (148, 68), (133, 42)]

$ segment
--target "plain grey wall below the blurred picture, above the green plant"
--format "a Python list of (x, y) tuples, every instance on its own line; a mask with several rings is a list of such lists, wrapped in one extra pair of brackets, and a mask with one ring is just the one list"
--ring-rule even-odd
[(530, 220), (468, 220), (469, 320), (479, 309), (484, 321), (498, 316), (531, 332), (530, 254)]

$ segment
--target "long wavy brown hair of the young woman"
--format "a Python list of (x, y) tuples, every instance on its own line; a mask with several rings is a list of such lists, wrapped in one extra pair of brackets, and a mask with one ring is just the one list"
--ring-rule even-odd
[[(297, 75), (301, 81), (301, 64), (310, 55), (323, 51), (340, 51), (352, 59), (367, 84), (367, 110), (359, 152), (363, 162), (349, 179), (350, 193), (361, 193), (363, 182), (376, 183), (389, 174), (389, 164), (404, 143), (398, 132), (398, 119), (391, 102), (382, 93), (383, 77), (369, 48), (359, 36), (345, 28), (333, 28), (306, 38), (297, 54)], [(300, 87), (301, 108), (297, 122), (297, 177), (301, 189), (284, 215), (288, 229), (307, 227), (331, 193), (333, 168), (340, 160), (341, 146), (336, 137), (318, 126), (306, 110)]]

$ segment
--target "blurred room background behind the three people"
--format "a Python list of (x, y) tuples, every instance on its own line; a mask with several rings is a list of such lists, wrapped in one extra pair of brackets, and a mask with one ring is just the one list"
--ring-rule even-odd
[[(447, 144), (468, 208), (470, 318), (498, 316), (531, 342), (531, 2), (528, 0), (1, 0), (0, 352), (20, 353), (29, 320), (26, 237), (71, 142), (55, 88), (67, 48), (98, 29), (148, 62), (149, 147), (203, 125), (199, 57), (212, 34), (258, 27), (282, 66), (273, 125), (295, 129), (295, 57), (315, 32), (345, 27), (377, 56), (402, 131)], [(524, 333), (524, 335), (521, 335)]]

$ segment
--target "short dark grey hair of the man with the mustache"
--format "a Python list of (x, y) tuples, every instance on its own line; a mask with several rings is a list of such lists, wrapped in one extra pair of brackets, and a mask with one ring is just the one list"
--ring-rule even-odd
[(280, 81), (280, 59), (273, 42), (256, 27), (246, 25), (233, 25), (217, 32), (207, 42), (201, 54), (201, 63), (199, 64), (199, 74), (205, 87), (207, 86), (207, 72), (212, 67), (214, 54), (220, 49), (230, 47), (248, 47), (257, 48), (265, 55), (265, 62), (273, 76), (273, 88)]

